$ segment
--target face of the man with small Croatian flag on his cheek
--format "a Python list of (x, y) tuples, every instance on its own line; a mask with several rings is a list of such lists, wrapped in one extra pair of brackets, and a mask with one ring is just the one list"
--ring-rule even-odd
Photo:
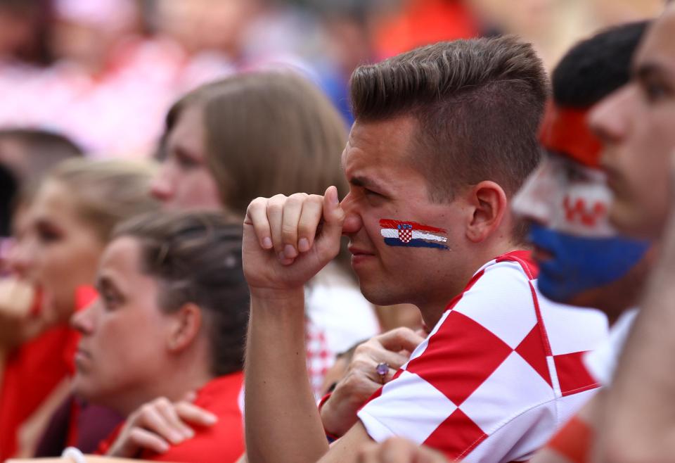
[(379, 305), (444, 304), (467, 282), (461, 201), (430, 200), (410, 160), (422, 156), (416, 130), (413, 118), (357, 121), (342, 154), (352, 267), (361, 291)]

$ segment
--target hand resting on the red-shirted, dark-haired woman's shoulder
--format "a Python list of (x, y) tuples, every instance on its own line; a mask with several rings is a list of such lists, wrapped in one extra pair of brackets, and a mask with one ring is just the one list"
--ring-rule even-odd
[(120, 436), (110, 445), (108, 454), (113, 457), (134, 458), (141, 450), (164, 453), (170, 445), (176, 445), (195, 436), (188, 426), (212, 426), (217, 417), (191, 403), (192, 397), (180, 402), (158, 398), (142, 405), (129, 415)]

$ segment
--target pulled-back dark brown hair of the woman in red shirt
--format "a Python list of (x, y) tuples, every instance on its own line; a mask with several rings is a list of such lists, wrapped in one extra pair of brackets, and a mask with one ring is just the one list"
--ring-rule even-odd
[(160, 310), (200, 307), (212, 374), (241, 371), (249, 313), (241, 224), (213, 212), (151, 213), (120, 225), (113, 236), (138, 240), (141, 272), (158, 281)]

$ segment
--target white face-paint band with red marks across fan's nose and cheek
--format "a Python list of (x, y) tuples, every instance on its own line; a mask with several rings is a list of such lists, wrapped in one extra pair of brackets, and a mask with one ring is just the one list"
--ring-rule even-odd
[(608, 221), (612, 193), (605, 173), (550, 154), (513, 199), (513, 210), (557, 232), (614, 236)]

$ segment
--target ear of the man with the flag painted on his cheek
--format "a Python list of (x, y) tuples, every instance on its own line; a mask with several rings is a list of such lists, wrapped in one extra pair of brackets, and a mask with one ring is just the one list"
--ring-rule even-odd
[(489, 180), (470, 187), (467, 195), (473, 215), (466, 228), (466, 237), (480, 243), (499, 229), (509, 207), (508, 200), (502, 187)]

